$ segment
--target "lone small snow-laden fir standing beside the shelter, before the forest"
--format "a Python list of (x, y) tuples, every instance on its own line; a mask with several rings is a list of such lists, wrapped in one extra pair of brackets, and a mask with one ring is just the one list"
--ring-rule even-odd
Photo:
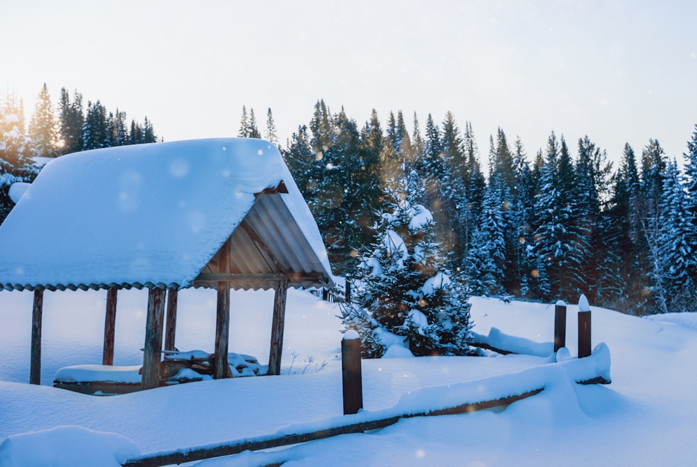
[(433, 217), (418, 200), (415, 171), (386, 193), (390, 210), (376, 227), (377, 240), (362, 250), (351, 303), (342, 305), (347, 328), (362, 337), (364, 354), (380, 357), (392, 346), (413, 355), (463, 355), (470, 342), (467, 293), (446, 268)]

